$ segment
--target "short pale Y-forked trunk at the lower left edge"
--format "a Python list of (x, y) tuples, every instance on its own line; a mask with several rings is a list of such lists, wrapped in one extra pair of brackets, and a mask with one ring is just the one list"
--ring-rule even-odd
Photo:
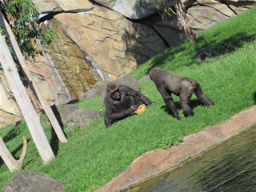
[(27, 150), (27, 139), (25, 138), (25, 136), (23, 136), (23, 149), (20, 155), (20, 159), (19, 160), (14, 159), (12, 154), (4, 144), (4, 140), (0, 136), (0, 156), (10, 171), (13, 172), (13, 171), (22, 169), (22, 163), (26, 155), (26, 150)]

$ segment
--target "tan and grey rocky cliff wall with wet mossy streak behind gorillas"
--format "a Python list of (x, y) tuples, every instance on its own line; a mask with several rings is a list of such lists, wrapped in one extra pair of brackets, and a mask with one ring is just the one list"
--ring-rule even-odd
[[(36, 57), (29, 65), (49, 105), (81, 100), (99, 80), (114, 80), (129, 73), (186, 39), (175, 16), (162, 20), (156, 13), (166, 5), (152, 0), (145, 0), (143, 7), (137, 0), (32, 1), (47, 14), (42, 17), (42, 28), (52, 28), (58, 39), (43, 47), (45, 56)], [(196, 33), (256, 6), (255, 0), (183, 2)], [(2, 90), (1, 95), (10, 94)], [(1, 97), (0, 125), (14, 114), (7, 110), (13, 105), (3, 108), (3, 101)]]

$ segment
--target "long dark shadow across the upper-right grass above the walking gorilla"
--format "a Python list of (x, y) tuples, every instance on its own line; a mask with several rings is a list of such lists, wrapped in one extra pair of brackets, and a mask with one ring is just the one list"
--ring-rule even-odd
[[(194, 44), (184, 43), (181, 46), (173, 47), (169, 50), (166, 50), (164, 53), (155, 56), (151, 60), (151, 67), (161, 66), (163, 68), (163, 63), (168, 63), (168, 68), (175, 68), (175, 62), (178, 60), (184, 61), (184, 67), (190, 66), (193, 63), (198, 63), (196, 60), (197, 52), (201, 49), (208, 49), (209, 52), (215, 53), (215, 56), (220, 56), (222, 54), (231, 53), (237, 48), (243, 47), (246, 42), (250, 42), (255, 38), (255, 34), (248, 35), (246, 33), (237, 33), (232, 37), (222, 40), (216, 38), (218, 34), (214, 34), (212, 39), (203, 39), (203, 37), (198, 37)], [(177, 54), (179, 56), (177, 57)], [(165, 66), (164, 66), (165, 67)], [(181, 67), (179, 65), (179, 67)], [(149, 70), (147, 73), (149, 72)]]

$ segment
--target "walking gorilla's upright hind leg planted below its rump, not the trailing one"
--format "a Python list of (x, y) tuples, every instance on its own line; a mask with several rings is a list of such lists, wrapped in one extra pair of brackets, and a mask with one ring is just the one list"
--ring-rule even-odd
[(194, 115), (193, 110), (188, 105), (193, 92), (194, 92), (193, 86), (185, 86), (181, 89), (181, 92), (180, 92), (180, 105), (181, 105), (181, 108), (183, 109), (185, 117)]

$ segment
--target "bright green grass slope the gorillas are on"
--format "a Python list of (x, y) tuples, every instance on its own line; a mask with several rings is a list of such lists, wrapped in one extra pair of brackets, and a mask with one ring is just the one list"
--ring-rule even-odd
[[(26, 124), (0, 129), (7, 147), (19, 158), (22, 135), (28, 139), (24, 171), (47, 173), (64, 183), (67, 192), (93, 191), (124, 171), (142, 153), (178, 144), (184, 136), (221, 123), (256, 103), (256, 9), (232, 17), (198, 34), (197, 42), (185, 42), (153, 57), (132, 72), (137, 79), (148, 75), (152, 67), (173, 70), (197, 79), (204, 92), (216, 103), (213, 107), (196, 106), (195, 116), (181, 120), (168, 115), (164, 101), (152, 81), (141, 83), (141, 92), (156, 104), (141, 115), (114, 123), (106, 129), (102, 98), (78, 103), (78, 107), (100, 110), (101, 119), (85, 129), (64, 131), (68, 143), (58, 143), (43, 118), (42, 125), (55, 151), (56, 159), (47, 165), (35, 148)], [(210, 47), (219, 56), (196, 62), (196, 52)], [(193, 96), (192, 100), (196, 97)], [(178, 97), (174, 96), (175, 102)], [(0, 161), (0, 187), (13, 175)]]

